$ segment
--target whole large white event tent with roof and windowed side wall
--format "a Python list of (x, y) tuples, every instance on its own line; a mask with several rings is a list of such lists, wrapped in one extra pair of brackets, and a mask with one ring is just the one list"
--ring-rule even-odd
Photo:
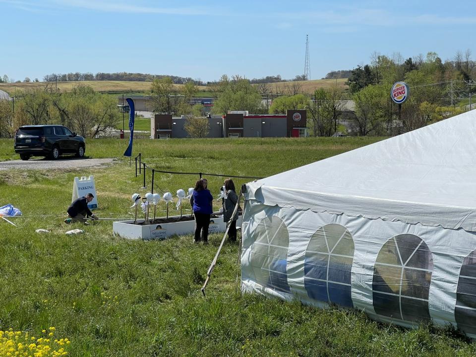
[(244, 291), (476, 337), (476, 111), (246, 186)]

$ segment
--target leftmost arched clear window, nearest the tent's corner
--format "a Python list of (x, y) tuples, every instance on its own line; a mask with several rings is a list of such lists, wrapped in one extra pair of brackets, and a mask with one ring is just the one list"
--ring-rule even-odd
[(277, 216), (262, 219), (253, 232), (250, 265), (256, 283), (289, 293), (288, 262), (289, 233)]

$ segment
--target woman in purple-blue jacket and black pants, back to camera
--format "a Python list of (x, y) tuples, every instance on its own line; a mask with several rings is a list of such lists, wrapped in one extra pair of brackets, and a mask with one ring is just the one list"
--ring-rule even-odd
[(203, 179), (197, 180), (192, 197), (190, 197), (190, 204), (195, 216), (195, 238), (193, 242), (198, 243), (203, 239), (203, 244), (208, 244), (208, 226), (210, 225), (210, 215), (213, 212), (213, 196), (205, 187)]

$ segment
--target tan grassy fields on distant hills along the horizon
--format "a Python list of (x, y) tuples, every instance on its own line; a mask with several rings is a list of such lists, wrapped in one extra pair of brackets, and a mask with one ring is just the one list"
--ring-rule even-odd
[[(345, 89), (347, 86), (345, 82), (347, 79), (337, 79), (337, 86)], [(13, 94), (16, 90), (25, 90), (28, 88), (44, 88), (46, 85), (56, 88), (55, 82), (31, 82), (31, 83), (0, 83), (0, 90)], [(103, 93), (137, 93), (148, 92), (151, 90), (152, 82), (132, 82), (132, 81), (68, 81), (58, 82), (59, 91), (70, 91), (77, 85), (88, 85), (94, 88), (94, 90)], [(254, 84), (259, 86), (259, 84)], [(329, 88), (336, 85), (335, 79), (315, 79), (309, 81), (297, 81), (297, 82), (279, 82), (279, 83), (267, 83), (268, 93), (280, 93), (290, 94), (289, 91), (293, 91), (293, 88), (298, 87), (299, 93), (313, 93), (317, 88)], [(176, 84), (179, 88), (182, 84)], [(208, 91), (206, 86), (198, 86), (199, 91)], [(292, 93), (294, 94), (294, 93)]]

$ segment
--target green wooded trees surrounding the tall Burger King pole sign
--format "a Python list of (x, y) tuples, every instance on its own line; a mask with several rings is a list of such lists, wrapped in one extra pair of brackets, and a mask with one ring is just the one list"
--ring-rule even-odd
[[(390, 57), (374, 52), (368, 64), (352, 70), (347, 82), (356, 105), (356, 132), (400, 133), (460, 114), (476, 89), (475, 78), (476, 61), (470, 50), (445, 61), (435, 52), (407, 59), (398, 53)], [(390, 90), (397, 81), (405, 81), (411, 90), (402, 105), (401, 122), (395, 125), (398, 106), (391, 101)]]

